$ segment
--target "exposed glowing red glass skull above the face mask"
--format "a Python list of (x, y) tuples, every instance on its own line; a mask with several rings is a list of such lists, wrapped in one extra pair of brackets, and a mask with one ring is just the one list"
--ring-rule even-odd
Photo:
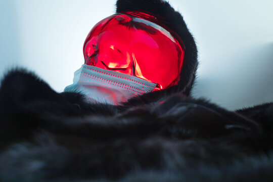
[(184, 45), (156, 21), (138, 12), (114, 14), (100, 21), (85, 39), (85, 64), (157, 83), (154, 90), (177, 85)]

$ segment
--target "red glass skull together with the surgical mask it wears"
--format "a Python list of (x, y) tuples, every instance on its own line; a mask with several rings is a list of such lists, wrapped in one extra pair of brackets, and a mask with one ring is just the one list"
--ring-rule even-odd
[(184, 44), (154, 16), (114, 14), (88, 33), (84, 65), (65, 92), (79, 92), (90, 102), (118, 105), (128, 99), (177, 85)]

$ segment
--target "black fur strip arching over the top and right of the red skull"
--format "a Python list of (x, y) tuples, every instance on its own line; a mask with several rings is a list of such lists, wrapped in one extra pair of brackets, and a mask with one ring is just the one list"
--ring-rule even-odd
[(171, 89), (189, 95), (196, 76), (197, 47), (183, 17), (165, 1), (161, 0), (118, 0), (116, 12), (140, 11), (154, 15), (183, 40), (185, 57), (180, 73), (179, 85)]

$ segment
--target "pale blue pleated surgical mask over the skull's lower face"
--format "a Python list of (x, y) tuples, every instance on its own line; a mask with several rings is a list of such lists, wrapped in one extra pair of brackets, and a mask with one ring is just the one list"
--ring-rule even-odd
[(64, 92), (81, 93), (88, 102), (118, 105), (155, 87), (155, 83), (135, 76), (84, 64), (75, 71), (73, 84)]

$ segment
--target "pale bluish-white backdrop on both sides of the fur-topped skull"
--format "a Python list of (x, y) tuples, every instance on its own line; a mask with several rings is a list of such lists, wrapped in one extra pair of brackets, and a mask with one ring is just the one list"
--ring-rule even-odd
[[(273, 101), (272, 0), (170, 0), (198, 49), (194, 97), (228, 109)], [(57, 92), (83, 64), (89, 30), (115, 11), (115, 0), (0, 0), (0, 76), (34, 71)]]

